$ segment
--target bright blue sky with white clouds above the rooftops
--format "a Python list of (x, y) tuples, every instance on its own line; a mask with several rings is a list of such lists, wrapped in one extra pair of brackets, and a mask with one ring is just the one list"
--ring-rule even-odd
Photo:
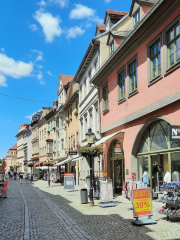
[(0, 1), (0, 158), (19, 125), (57, 100), (59, 74), (76, 74), (106, 9), (129, 12), (131, 2)]

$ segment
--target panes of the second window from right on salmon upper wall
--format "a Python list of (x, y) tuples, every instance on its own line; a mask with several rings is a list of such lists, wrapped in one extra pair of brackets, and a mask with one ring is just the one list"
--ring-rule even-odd
[(161, 43), (151, 47), (151, 80), (161, 75)]

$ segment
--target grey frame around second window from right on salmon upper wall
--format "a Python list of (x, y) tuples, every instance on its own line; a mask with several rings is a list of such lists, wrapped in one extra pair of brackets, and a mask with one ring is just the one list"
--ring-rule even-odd
[[(156, 77), (152, 78), (152, 68), (151, 68), (151, 48), (157, 43), (160, 42), (161, 44), (161, 74), (157, 75)], [(163, 54), (162, 54), (162, 32), (160, 32), (148, 45), (147, 45), (147, 69), (148, 69), (148, 87), (151, 86), (153, 83), (159, 81), (163, 76)]]

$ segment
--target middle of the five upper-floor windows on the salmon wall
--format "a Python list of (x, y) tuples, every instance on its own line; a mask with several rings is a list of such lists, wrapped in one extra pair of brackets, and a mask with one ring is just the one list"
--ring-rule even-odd
[(129, 95), (137, 92), (137, 56), (128, 63), (128, 84)]

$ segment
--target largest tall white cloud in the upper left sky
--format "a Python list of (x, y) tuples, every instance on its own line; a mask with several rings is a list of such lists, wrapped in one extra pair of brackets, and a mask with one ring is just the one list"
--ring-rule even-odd
[(38, 10), (34, 15), (34, 19), (42, 26), (47, 42), (51, 43), (55, 37), (61, 35), (62, 29), (59, 26), (61, 22), (59, 16), (53, 17), (51, 13)]

